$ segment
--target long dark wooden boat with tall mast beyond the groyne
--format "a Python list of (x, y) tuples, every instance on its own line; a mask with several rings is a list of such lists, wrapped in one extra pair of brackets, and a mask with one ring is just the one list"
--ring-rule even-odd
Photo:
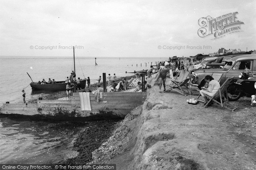
[[(76, 66), (75, 66), (75, 47), (73, 47), (73, 53), (74, 53), (74, 71), (76, 73)], [(28, 74), (28, 73), (27, 73)], [(29, 74), (28, 74), (29, 75)], [(65, 81), (56, 81), (55, 84), (38, 84), (38, 82), (33, 82), (32, 78), (29, 75), (29, 78), (31, 79), (30, 86), (34, 90), (44, 90), (44, 91), (61, 91), (66, 90), (67, 82)], [(81, 88), (84, 89), (86, 86), (86, 80), (81, 80)], [(71, 84), (76, 84), (76, 81), (70, 82)]]

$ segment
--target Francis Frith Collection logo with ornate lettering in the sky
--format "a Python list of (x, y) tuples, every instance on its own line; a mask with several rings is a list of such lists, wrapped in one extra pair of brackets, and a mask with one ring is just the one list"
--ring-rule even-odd
[(199, 37), (213, 35), (213, 39), (216, 39), (230, 33), (241, 31), (241, 24), (244, 23), (237, 20), (237, 14), (238, 12), (233, 12), (216, 18), (212, 18), (211, 16), (201, 17), (198, 20), (198, 25), (201, 26), (198, 29)]

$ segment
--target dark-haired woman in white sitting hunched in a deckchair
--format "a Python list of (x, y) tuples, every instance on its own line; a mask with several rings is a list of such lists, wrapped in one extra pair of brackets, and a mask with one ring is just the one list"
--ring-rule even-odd
[[(209, 96), (213, 96), (215, 95), (215, 93), (218, 91), (218, 89), (221, 88), (220, 84), (218, 81), (214, 80), (214, 78), (210, 75), (206, 75), (204, 80), (209, 84), (208, 88), (202, 87), (202, 89), (200, 90), (200, 94), (204, 97), (205, 103), (207, 104), (207, 102), (209, 101), (208, 98), (204, 95), (209, 95)], [(212, 103), (210, 103), (212, 104)]]

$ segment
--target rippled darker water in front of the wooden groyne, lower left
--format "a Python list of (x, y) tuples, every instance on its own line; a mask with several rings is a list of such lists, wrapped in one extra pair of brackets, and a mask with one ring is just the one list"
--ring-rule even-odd
[(54, 164), (76, 156), (72, 140), (81, 127), (70, 122), (0, 118), (0, 163)]

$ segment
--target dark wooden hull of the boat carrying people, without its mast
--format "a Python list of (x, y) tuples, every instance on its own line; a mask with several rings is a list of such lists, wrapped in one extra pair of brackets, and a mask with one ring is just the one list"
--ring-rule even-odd
[[(75, 84), (75, 83), (73, 83)], [(32, 89), (44, 90), (44, 91), (61, 91), (66, 90), (67, 83), (64, 81), (58, 81), (56, 84), (36, 84), (30, 83)], [(86, 86), (86, 80), (81, 80), (81, 88), (84, 89)]]

